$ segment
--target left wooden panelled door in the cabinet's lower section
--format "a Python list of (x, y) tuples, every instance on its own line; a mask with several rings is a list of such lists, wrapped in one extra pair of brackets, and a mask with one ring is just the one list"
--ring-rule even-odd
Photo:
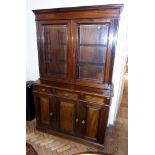
[(47, 94), (34, 93), (37, 125), (56, 128), (54, 97)]

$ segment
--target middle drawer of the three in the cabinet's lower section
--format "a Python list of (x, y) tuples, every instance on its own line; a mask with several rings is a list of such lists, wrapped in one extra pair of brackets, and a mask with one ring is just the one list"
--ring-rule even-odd
[(78, 99), (78, 94), (71, 93), (71, 92), (68, 92), (68, 91), (55, 90), (55, 94), (60, 96), (60, 97), (64, 97), (64, 98), (68, 98), (68, 99), (72, 99), (72, 100), (77, 100)]

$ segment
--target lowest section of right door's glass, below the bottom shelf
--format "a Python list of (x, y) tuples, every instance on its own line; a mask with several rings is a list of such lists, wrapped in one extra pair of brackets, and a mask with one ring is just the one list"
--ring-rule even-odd
[(103, 81), (103, 69), (96, 66), (79, 66), (79, 78), (86, 81)]

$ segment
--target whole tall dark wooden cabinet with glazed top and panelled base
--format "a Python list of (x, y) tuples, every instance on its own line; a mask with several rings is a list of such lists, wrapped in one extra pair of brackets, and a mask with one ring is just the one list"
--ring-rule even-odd
[(119, 5), (33, 10), (40, 78), (37, 129), (104, 147)]

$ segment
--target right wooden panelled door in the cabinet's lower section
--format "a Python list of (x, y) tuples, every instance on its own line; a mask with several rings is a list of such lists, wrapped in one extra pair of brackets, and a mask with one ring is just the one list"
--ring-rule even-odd
[(108, 106), (80, 101), (76, 116), (77, 136), (103, 144), (108, 110)]

